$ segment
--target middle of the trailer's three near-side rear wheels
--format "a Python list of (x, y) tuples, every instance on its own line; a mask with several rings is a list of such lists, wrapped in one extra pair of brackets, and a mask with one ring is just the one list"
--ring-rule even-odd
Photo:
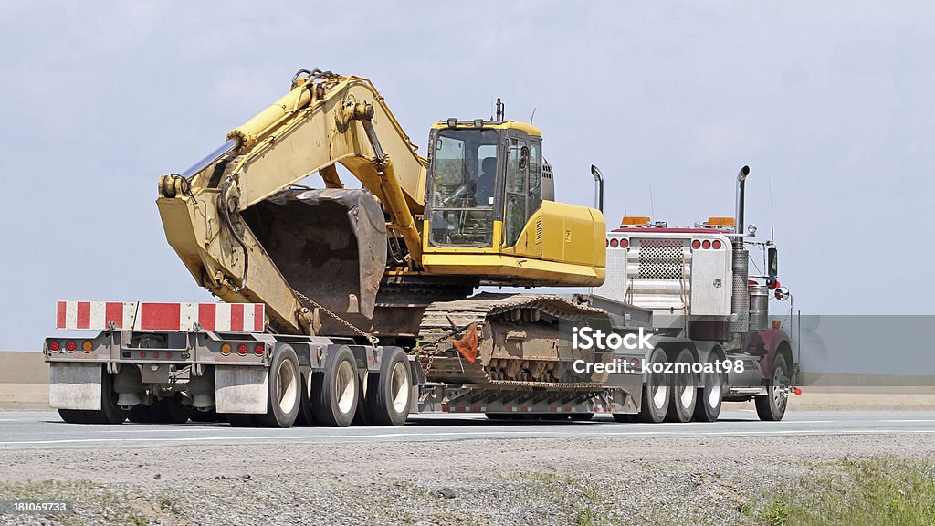
[(315, 420), (327, 427), (351, 425), (357, 411), (358, 383), (357, 363), (351, 349), (339, 347), (328, 353), (324, 372), (312, 376), (311, 402)]

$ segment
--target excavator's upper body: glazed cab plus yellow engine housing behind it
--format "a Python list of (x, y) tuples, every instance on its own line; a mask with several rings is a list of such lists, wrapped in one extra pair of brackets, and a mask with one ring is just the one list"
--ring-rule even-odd
[[(432, 126), (424, 270), (487, 285), (594, 285), (604, 279), (604, 218), (555, 202), (542, 134), (512, 121)], [(548, 188), (546, 188), (548, 186)]]

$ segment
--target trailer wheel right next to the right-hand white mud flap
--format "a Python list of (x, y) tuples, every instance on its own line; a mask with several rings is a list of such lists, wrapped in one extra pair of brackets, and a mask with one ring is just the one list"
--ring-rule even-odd
[(267, 428), (288, 428), (295, 422), (301, 404), (302, 373), (292, 347), (285, 345), (273, 356), (266, 382), (266, 414), (256, 415), (256, 423)]

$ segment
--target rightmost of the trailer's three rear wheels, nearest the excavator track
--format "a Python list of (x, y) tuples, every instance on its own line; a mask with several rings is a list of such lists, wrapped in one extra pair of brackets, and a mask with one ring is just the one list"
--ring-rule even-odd
[(401, 426), (410, 410), (409, 358), (399, 347), (383, 347), (383, 353), (380, 373), (367, 381), (367, 416), (378, 426)]

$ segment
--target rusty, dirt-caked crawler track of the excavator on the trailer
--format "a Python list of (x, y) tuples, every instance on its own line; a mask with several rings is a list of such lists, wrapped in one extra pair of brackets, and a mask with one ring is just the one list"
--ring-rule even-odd
[[(471, 324), (479, 335), (470, 363), (453, 339)], [(576, 359), (606, 361), (593, 350), (574, 349), (574, 326), (610, 327), (605, 311), (560, 296), (483, 293), (438, 301), (425, 310), (419, 329), (419, 361), (431, 382), (498, 389), (555, 387), (593, 389), (606, 373), (576, 373)]]

